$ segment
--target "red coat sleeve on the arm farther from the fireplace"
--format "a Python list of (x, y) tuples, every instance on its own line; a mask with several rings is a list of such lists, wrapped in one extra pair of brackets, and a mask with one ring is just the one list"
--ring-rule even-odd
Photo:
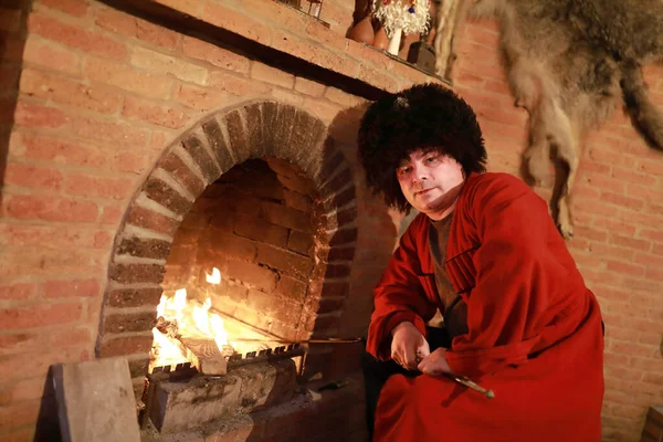
[(467, 217), (481, 242), (472, 256), (469, 333), (446, 352), (452, 371), (467, 376), (525, 364), (551, 320), (556, 282), (571, 272), (569, 265), (575, 269), (544, 200), (519, 179), (497, 177), (469, 194)]

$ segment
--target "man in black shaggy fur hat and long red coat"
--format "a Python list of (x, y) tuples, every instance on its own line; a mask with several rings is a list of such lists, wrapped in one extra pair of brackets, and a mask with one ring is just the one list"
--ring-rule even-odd
[[(373, 293), (373, 440), (599, 442), (599, 305), (544, 200), (518, 178), (485, 172), (470, 106), (432, 84), (379, 99), (361, 122), (359, 155), (388, 206), (420, 212)], [(448, 339), (427, 328), (438, 309)]]

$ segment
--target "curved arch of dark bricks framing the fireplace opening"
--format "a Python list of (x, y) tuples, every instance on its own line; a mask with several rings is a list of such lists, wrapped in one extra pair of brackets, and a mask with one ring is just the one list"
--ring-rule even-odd
[(298, 166), (322, 199), (316, 232), (317, 305), (304, 318), (315, 336), (338, 333), (357, 239), (350, 168), (327, 127), (306, 110), (261, 101), (217, 112), (168, 146), (136, 192), (118, 229), (104, 295), (97, 357), (129, 356), (144, 376), (160, 283), (175, 232), (204, 189), (250, 158), (276, 157)]

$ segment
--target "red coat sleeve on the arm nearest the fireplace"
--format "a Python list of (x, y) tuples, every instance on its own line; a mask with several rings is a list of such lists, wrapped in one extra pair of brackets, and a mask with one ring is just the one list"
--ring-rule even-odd
[(427, 297), (420, 281), (425, 276), (421, 275), (417, 234), (424, 228), (421, 218), (414, 219), (373, 290), (375, 311), (366, 348), (378, 359), (391, 357), (391, 329), (399, 323), (411, 322), (425, 336), (425, 323), (435, 314), (436, 305)]

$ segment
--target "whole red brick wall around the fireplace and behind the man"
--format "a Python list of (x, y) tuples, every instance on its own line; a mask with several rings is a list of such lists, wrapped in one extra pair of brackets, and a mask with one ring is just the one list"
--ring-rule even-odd
[[(355, 154), (357, 122), (364, 101), (380, 90), (431, 78), (345, 40), (350, 18), (344, 11), (354, 2), (325, 1), (322, 18), (329, 30), (267, 0), (145, 1), (137, 2), (146, 9), (136, 17), (113, 3), (127, 2), (39, 0), (28, 13), (27, 1), (13, 0), (0, 9), (7, 48), (0, 78), (13, 84), (0, 105), (0, 441), (31, 441), (35, 432), (53, 429), (49, 366), (95, 356), (104, 302), (145, 311), (158, 303), (158, 283), (107, 292), (112, 253), (127, 220), (175, 232), (179, 219), (150, 210), (140, 192), (149, 178), (158, 181), (155, 167), (167, 161), (181, 134), (209, 115), (252, 99), (295, 105), (335, 140), (329, 160), (340, 158), (345, 167), (334, 176), (339, 192), (330, 201), (344, 207), (356, 199), (357, 211), (332, 239), (341, 263), (336, 272), (346, 272), (344, 249), (355, 248), (350, 274), (322, 291), (324, 302), (343, 299), (340, 317), (328, 318), (339, 334), (364, 333), (370, 290), (402, 218), (364, 186)], [(199, 21), (194, 29), (187, 28), (189, 21), (167, 29), (159, 25), (161, 17), (147, 20), (149, 4), (182, 9)], [(495, 27), (471, 24), (461, 36), (454, 88), (480, 115), (490, 168), (517, 173), (527, 116), (513, 107)], [(663, 72), (648, 70), (646, 78), (663, 104), (656, 95)], [(203, 179), (201, 170), (197, 176)], [(577, 228), (569, 246), (606, 316), (607, 441), (636, 440), (648, 407), (663, 402), (656, 298), (662, 173), (661, 155), (646, 148), (618, 112), (588, 140), (576, 183)], [(351, 192), (344, 190), (347, 182)], [(347, 221), (347, 213), (341, 219)], [(329, 225), (337, 221), (328, 220)], [(123, 345), (141, 348), (149, 343), (141, 336)], [(320, 366), (335, 360), (324, 358), (327, 349), (315, 350)], [(144, 367), (133, 370), (139, 376)]]

